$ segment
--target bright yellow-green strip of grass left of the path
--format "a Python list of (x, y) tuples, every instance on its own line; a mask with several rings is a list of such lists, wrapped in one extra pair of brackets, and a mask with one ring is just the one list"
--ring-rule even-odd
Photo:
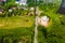
[(1, 28), (17, 28), (17, 27), (31, 27), (34, 25), (34, 16), (12, 16), (0, 17)]

